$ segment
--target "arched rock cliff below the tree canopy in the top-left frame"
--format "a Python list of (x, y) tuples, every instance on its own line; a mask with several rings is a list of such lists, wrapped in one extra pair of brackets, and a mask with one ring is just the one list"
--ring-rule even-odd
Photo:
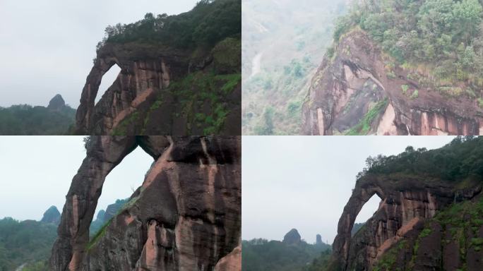
[[(221, 43), (221, 42), (220, 42)], [(225, 85), (225, 80), (208, 78), (211, 73), (224, 75), (239, 72), (240, 66), (232, 67), (217, 61), (217, 54), (227, 54), (239, 59), (239, 52), (231, 48), (215, 47), (202, 57), (192, 57), (193, 52), (173, 49), (160, 44), (130, 42), (107, 43), (97, 51), (97, 58), (90, 71), (81, 96), (76, 115), (77, 134), (87, 135), (193, 135), (205, 134), (208, 124), (196, 123), (196, 116), (212, 116), (215, 109), (226, 109), (220, 131), (222, 135), (239, 135), (241, 119), (241, 84)], [(95, 98), (102, 77), (112, 66), (121, 72), (97, 104)], [(235, 72), (236, 72), (235, 71)], [(196, 79), (186, 83), (187, 76)], [(219, 79), (219, 78), (218, 78)], [(213, 81), (213, 89), (206, 90), (205, 80)], [(216, 82), (215, 82), (216, 81)], [(186, 83), (183, 85), (183, 82)], [(174, 86), (173, 86), (173, 83)], [(181, 89), (176, 87), (182, 85)], [(172, 86), (169, 88), (169, 86)], [(200, 85), (202, 85), (200, 87)], [(198, 97), (201, 92), (205, 96)], [(216, 104), (208, 97), (217, 95)], [(189, 97), (184, 97), (187, 95)], [(196, 98), (191, 104), (184, 100)], [(213, 107), (213, 108), (212, 108)], [(204, 121), (204, 119), (203, 119)], [(211, 131), (208, 131), (211, 132)], [(213, 132), (212, 132), (213, 133)]]

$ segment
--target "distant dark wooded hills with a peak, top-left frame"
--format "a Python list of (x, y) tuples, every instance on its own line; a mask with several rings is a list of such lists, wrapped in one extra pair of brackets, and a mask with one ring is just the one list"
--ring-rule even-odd
[(56, 95), (47, 107), (28, 104), (0, 107), (0, 135), (64, 135), (73, 125), (76, 109)]

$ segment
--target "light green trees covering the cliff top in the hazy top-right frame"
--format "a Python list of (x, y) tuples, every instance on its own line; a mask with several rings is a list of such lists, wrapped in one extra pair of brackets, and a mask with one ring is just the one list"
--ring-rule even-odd
[(475, 98), (483, 95), (482, 18), (479, 0), (364, 0), (338, 20), (334, 40), (360, 27), (392, 56), (388, 75), (400, 66), (423, 87)]

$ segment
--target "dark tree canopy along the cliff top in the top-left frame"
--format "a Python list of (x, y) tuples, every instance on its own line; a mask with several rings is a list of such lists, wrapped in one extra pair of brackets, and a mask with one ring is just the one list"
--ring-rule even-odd
[(136, 23), (109, 25), (106, 43), (160, 42), (168, 46), (194, 48), (213, 46), (226, 37), (241, 35), (241, 1), (201, 0), (189, 12), (175, 16), (147, 13)]

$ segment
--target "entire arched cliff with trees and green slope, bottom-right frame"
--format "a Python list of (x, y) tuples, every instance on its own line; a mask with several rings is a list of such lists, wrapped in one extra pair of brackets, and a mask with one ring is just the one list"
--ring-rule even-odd
[[(482, 155), (483, 138), (457, 138), (439, 150), (369, 159), (340, 217), (326, 270), (479, 270)], [(374, 195), (378, 210), (351, 236)]]

